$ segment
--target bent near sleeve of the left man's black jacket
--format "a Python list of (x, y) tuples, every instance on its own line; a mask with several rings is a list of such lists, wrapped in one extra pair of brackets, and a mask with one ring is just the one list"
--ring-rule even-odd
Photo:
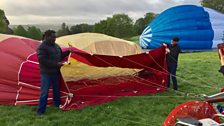
[(47, 51), (44, 47), (39, 47), (37, 49), (37, 56), (40, 64), (44, 64), (47, 67), (55, 68), (60, 66), (57, 61), (50, 60), (48, 58)]

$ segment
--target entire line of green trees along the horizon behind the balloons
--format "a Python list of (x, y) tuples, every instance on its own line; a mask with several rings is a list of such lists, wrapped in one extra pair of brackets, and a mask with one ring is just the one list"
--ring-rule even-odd
[[(215, 9), (224, 13), (223, 0), (201, 0), (201, 5)], [(149, 12), (144, 17), (137, 19), (135, 22), (127, 14), (114, 14), (112, 17), (107, 17), (94, 25), (90, 24), (77, 24), (68, 27), (66, 23), (62, 23), (61, 28), (57, 31), (57, 36), (64, 36), (70, 34), (77, 34), (83, 32), (103, 33), (118, 38), (126, 38), (130, 36), (137, 36), (142, 33), (145, 27), (157, 16), (158, 14)], [(41, 30), (35, 26), (24, 28), (22, 25), (10, 29), (9, 20), (6, 18), (3, 10), (0, 9), (0, 33), (14, 34), (41, 40)]]

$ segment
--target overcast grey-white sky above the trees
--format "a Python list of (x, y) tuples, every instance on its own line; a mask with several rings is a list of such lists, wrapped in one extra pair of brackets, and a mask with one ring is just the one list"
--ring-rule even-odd
[(200, 0), (0, 0), (10, 24), (94, 24), (113, 14), (134, 21), (147, 12), (161, 13), (176, 5), (200, 5)]

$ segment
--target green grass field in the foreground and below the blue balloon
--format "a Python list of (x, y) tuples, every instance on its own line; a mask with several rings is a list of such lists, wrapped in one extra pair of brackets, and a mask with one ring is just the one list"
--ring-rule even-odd
[[(224, 83), (217, 71), (220, 60), (216, 51), (182, 53), (177, 71), (179, 93), (217, 93)], [(0, 126), (161, 126), (178, 104), (199, 99), (177, 97), (172, 91), (61, 111), (48, 107), (44, 116), (36, 116), (36, 106), (0, 106)]]

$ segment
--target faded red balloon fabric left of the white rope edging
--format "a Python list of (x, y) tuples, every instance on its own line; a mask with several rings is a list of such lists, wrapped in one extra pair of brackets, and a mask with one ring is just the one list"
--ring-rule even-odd
[(39, 44), (31, 39), (14, 37), (0, 42), (0, 104), (15, 104), (20, 90), (18, 75), (21, 64), (35, 53)]

